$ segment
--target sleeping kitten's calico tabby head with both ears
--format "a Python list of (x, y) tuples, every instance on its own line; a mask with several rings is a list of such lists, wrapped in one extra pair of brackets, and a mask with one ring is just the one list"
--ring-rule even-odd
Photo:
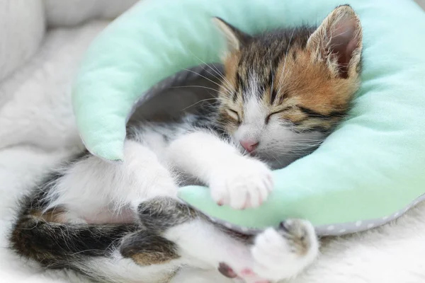
[(310, 153), (346, 115), (359, 86), (362, 32), (350, 6), (318, 28), (246, 35), (220, 18), (229, 46), (219, 122), (278, 168)]

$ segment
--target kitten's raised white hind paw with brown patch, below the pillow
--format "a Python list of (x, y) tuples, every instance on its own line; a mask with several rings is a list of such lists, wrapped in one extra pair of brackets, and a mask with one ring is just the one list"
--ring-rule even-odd
[(319, 244), (312, 224), (291, 219), (279, 229), (269, 228), (257, 236), (251, 254), (254, 272), (269, 280), (293, 277), (317, 257)]

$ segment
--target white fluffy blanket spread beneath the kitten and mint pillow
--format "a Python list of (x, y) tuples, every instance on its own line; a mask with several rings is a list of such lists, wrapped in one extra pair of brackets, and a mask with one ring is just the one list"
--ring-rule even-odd
[[(50, 31), (35, 57), (0, 86), (0, 94), (7, 92), (0, 100), (0, 282), (86, 282), (74, 272), (44, 272), (21, 260), (5, 236), (16, 197), (35, 175), (81, 146), (70, 85), (81, 54), (105, 25)], [(425, 204), (392, 224), (326, 239), (316, 264), (291, 281), (324, 282), (425, 282)]]

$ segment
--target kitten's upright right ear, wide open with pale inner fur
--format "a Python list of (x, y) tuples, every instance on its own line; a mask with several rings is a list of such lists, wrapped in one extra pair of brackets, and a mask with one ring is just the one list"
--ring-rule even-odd
[(353, 8), (335, 8), (310, 36), (307, 48), (341, 78), (355, 74), (361, 60), (362, 30)]

